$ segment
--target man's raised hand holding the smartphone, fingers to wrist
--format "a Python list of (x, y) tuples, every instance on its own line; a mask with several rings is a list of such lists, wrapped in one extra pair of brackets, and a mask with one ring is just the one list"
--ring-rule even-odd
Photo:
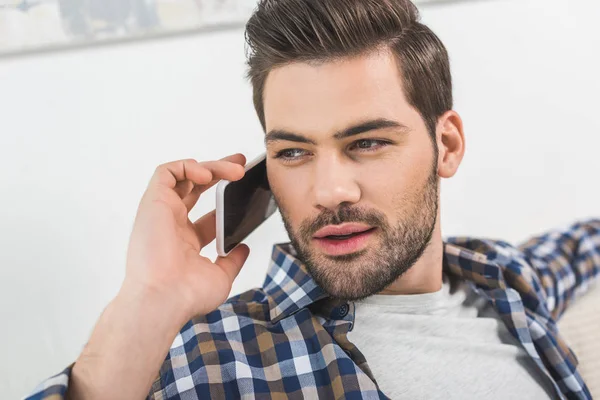
[(176, 161), (156, 169), (140, 203), (127, 257), (124, 290), (157, 292), (180, 304), (187, 319), (206, 314), (229, 295), (248, 257), (245, 245), (213, 263), (200, 250), (215, 238), (215, 212), (196, 222), (188, 213), (200, 195), (221, 179), (244, 176), (241, 154), (221, 161)]

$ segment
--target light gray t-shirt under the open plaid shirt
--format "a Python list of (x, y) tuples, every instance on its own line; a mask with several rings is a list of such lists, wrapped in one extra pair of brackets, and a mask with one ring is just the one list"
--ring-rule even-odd
[(392, 399), (556, 398), (496, 311), (466, 286), (375, 295), (355, 312), (348, 338)]

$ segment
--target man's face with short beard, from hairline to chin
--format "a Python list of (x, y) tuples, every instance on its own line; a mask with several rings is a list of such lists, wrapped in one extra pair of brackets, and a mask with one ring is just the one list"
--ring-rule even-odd
[(426, 249), (437, 152), (389, 52), (273, 70), (267, 170), (300, 259), (330, 295), (383, 290)]

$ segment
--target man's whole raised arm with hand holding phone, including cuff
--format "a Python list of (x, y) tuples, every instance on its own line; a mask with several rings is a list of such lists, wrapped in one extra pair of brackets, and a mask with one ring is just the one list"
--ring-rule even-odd
[(72, 369), (42, 384), (30, 399), (148, 395), (181, 327), (225, 301), (248, 256), (245, 246), (214, 263), (200, 256), (215, 237), (215, 214), (195, 223), (188, 219), (203, 191), (220, 179), (243, 176), (244, 161), (186, 160), (157, 169), (140, 202), (119, 293)]

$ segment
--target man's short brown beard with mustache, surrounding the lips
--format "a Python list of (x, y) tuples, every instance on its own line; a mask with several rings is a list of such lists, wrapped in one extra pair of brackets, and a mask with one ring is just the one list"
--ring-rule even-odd
[[(438, 177), (433, 168), (419, 190), (404, 196), (395, 225), (380, 211), (342, 205), (335, 211), (324, 210), (316, 218), (303, 221), (295, 231), (285, 210), (280, 207), (280, 211), (298, 258), (315, 282), (334, 298), (360, 300), (391, 285), (427, 249), (437, 221)], [(319, 229), (345, 222), (377, 227), (378, 243), (341, 256), (329, 256), (314, 249), (311, 243)]]

